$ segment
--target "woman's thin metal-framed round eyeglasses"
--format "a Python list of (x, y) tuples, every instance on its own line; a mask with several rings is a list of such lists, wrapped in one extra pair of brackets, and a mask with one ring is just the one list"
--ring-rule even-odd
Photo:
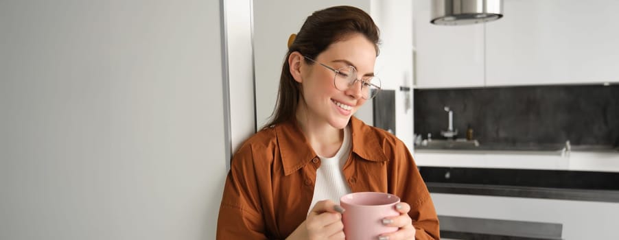
[[(303, 56), (303, 58), (307, 58)], [(316, 60), (312, 58), (307, 58), (312, 62), (316, 62)], [(357, 69), (353, 66), (341, 67), (340, 69), (334, 69), (320, 62), (316, 62), (327, 69), (334, 71), (334, 86), (339, 91), (347, 91), (349, 88), (355, 85), (355, 82), (361, 82), (361, 97), (363, 99), (372, 99), (376, 97), (377, 93), (380, 91), (380, 78), (376, 76), (367, 77), (366, 79), (357, 79)]]

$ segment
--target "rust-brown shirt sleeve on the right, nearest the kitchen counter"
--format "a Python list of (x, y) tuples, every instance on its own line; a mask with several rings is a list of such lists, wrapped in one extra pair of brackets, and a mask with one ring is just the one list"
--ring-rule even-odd
[(434, 203), (406, 145), (396, 141), (393, 156), (391, 173), (395, 179), (390, 181), (390, 188), (402, 202), (410, 204), (408, 215), (417, 231), (415, 239), (440, 239)]

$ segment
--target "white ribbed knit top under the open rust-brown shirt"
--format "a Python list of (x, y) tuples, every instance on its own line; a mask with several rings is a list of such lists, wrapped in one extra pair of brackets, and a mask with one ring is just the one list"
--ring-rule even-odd
[[(344, 179), (342, 168), (351, 152), (351, 130), (350, 126), (344, 128), (344, 141), (335, 156), (331, 158), (320, 158), (320, 167), (316, 171), (316, 185), (314, 185), (314, 197), (309, 211), (312, 211), (316, 202), (321, 200), (331, 200), (340, 204), (340, 197), (350, 193), (350, 187)], [(309, 211), (307, 212), (309, 214)]]

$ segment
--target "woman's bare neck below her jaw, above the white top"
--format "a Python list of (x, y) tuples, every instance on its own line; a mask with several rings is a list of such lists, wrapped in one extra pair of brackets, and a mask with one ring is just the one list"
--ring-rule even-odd
[(344, 130), (313, 119), (318, 118), (308, 115), (304, 108), (297, 108), (296, 121), (314, 152), (323, 157), (335, 156), (344, 141)]

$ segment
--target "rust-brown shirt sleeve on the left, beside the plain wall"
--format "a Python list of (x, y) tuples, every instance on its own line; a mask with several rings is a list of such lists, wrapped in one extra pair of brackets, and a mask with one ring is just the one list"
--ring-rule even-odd
[(217, 239), (268, 239), (251, 148), (235, 154), (226, 177), (217, 221)]

